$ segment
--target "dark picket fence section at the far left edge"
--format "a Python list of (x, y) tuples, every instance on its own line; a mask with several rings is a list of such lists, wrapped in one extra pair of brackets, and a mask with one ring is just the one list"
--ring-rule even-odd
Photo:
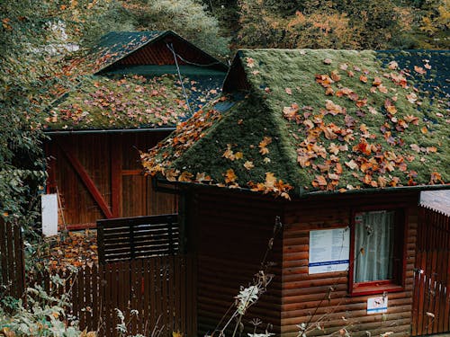
[(0, 218), (0, 297), (22, 297), (25, 262), (21, 227)]

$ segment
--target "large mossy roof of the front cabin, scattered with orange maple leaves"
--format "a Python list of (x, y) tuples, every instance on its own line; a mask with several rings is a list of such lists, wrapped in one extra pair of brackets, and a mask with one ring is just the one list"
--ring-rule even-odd
[(420, 53), (240, 50), (228, 93), (142, 164), (168, 181), (285, 198), (447, 184), (450, 53)]

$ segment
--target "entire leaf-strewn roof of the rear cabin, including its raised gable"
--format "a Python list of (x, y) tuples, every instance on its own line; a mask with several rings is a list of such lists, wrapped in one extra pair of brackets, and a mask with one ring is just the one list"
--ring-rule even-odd
[(44, 129), (174, 128), (220, 93), (228, 71), (174, 31), (112, 31), (87, 64), (44, 112)]

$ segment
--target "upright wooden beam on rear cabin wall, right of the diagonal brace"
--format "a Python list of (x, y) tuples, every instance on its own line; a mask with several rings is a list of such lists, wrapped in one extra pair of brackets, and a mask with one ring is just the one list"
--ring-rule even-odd
[(121, 144), (117, 142), (117, 137), (110, 135), (110, 158), (111, 158), (111, 206), (112, 215), (121, 217)]

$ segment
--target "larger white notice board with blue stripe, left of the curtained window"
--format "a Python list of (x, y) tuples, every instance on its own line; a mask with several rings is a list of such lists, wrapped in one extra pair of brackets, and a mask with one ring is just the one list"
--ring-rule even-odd
[(349, 259), (348, 227), (310, 231), (310, 274), (347, 270)]

